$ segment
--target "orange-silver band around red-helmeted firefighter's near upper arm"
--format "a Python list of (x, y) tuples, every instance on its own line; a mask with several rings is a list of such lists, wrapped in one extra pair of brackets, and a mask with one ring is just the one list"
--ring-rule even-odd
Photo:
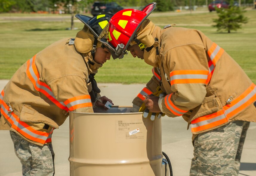
[(207, 70), (175, 70), (170, 72), (170, 83), (206, 83), (209, 71)]

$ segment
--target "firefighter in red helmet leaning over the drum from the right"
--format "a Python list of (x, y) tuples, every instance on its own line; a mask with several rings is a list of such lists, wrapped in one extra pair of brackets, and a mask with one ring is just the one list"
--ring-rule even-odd
[(130, 51), (153, 67), (133, 105), (145, 118), (182, 116), (191, 125), (190, 176), (238, 175), (246, 130), (256, 122), (256, 86), (201, 31), (153, 24), (147, 17), (155, 6), (119, 11), (99, 40), (116, 58)]

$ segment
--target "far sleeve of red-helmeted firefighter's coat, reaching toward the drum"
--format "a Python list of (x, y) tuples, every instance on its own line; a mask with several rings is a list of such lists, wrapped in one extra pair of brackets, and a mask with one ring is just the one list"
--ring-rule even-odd
[(160, 76), (155, 67), (152, 68), (152, 73), (154, 76), (149, 80), (149, 82), (146, 84), (146, 87), (144, 87), (140, 93), (133, 99), (132, 104), (133, 107), (141, 107), (143, 100), (145, 99), (143, 96), (150, 95), (156, 91), (156, 88), (160, 85)]

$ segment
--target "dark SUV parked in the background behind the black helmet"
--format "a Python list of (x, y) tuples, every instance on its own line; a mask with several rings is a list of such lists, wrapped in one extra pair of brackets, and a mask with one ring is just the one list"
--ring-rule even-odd
[(116, 2), (99, 2), (95, 1), (91, 7), (91, 13), (93, 16), (98, 15), (99, 13), (117, 13), (124, 8), (118, 5)]

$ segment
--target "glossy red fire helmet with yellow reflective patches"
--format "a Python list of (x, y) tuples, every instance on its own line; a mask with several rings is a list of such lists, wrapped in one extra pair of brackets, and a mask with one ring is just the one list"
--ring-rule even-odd
[(146, 20), (148, 15), (155, 9), (156, 3), (150, 3), (146, 5), (142, 10), (136, 9), (124, 9), (121, 10), (109, 21), (109, 29), (106, 31), (107, 41), (100, 38), (100, 41), (109, 45), (113, 51), (115, 51), (115, 58), (123, 58), (126, 54), (126, 49), (129, 46), (129, 43), (134, 40), (135, 33), (140, 28), (143, 21)]

